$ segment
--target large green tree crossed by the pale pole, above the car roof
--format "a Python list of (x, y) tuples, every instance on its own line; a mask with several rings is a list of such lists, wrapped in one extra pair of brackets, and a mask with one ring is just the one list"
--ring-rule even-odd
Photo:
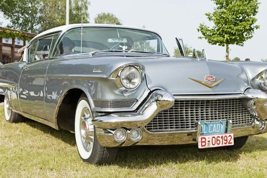
[[(89, 0), (70, 0), (70, 24), (89, 23)], [(64, 25), (66, 0), (1, 0), (0, 11), (10, 21), (8, 28), (31, 33)]]

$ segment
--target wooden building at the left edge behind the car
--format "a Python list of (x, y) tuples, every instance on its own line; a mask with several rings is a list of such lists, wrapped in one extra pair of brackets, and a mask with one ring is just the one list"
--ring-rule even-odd
[(16, 62), (21, 58), (18, 50), (37, 34), (0, 27), (0, 62)]

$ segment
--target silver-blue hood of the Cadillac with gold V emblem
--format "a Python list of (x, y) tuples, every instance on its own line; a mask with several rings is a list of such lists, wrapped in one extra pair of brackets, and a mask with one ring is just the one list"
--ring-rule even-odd
[[(165, 89), (178, 94), (237, 94), (250, 88), (244, 70), (234, 64), (220, 61), (196, 60), (191, 58), (158, 58), (139, 60), (145, 66), (148, 88)], [(215, 81), (204, 81), (212, 75)], [(206, 87), (196, 81), (213, 85)]]

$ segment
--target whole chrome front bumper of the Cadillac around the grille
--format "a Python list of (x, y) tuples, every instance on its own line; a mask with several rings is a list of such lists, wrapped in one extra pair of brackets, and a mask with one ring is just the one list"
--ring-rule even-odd
[[(267, 132), (267, 94), (258, 89), (247, 89), (242, 97), (252, 98), (253, 102), (247, 105), (248, 110), (254, 113), (254, 122), (249, 127), (232, 128), (234, 137), (263, 134)], [(156, 90), (152, 92), (146, 102), (137, 112), (116, 113), (95, 117), (92, 123), (96, 127), (96, 135), (99, 143), (105, 147), (130, 146), (130, 145), (169, 145), (196, 143), (197, 131), (188, 132), (161, 132), (151, 133), (144, 127), (161, 111), (174, 105), (173, 95), (167, 91)], [(261, 126), (264, 124), (264, 127)], [(114, 139), (114, 130), (125, 128), (127, 138), (123, 142)], [(140, 128), (142, 137), (139, 141), (130, 139), (130, 130)]]

